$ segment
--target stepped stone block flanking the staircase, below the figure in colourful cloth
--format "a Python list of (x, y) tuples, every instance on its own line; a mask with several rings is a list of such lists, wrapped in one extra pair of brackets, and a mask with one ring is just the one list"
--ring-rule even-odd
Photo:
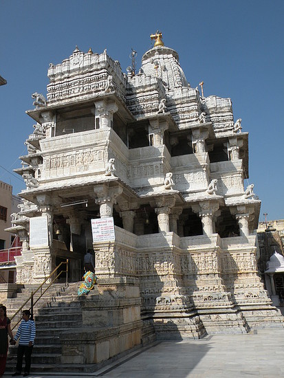
[(83, 324), (61, 335), (62, 364), (101, 364), (141, 345), (140, 291), (135, 278), (104, 278), (80, 297)]

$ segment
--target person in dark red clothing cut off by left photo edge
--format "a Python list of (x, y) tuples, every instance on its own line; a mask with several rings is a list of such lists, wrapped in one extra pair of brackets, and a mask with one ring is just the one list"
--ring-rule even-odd
[(7, 318), (6, 307), (0, 304), (0, 377), (4, 374), (8, 353), (8, 335), (13, 340), (11, 322)]

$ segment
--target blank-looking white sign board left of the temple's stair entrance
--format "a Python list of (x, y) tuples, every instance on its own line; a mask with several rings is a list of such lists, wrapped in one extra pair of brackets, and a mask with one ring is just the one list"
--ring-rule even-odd
[(30, 247), (48, 247), (47, 216), (30, 218)]

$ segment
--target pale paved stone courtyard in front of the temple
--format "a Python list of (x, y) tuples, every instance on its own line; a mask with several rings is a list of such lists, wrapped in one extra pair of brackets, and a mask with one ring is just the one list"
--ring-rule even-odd
[[(141, 352), (141, 351), (140, 351)], [(284, 329), (261, 329), (243, 335), (212, 335), (201, 340), (160, 342), (142, 353), (96, 373), (31, 375), (105, 378), (283, 377)], [(11, 375), (5, 375), (11, 377)]]

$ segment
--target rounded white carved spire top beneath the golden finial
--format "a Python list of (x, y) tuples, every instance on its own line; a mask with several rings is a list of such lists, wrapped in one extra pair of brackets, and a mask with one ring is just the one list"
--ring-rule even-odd
[(141, 68), (146, 76), (161, 78), (169, 89), (188, 87), (184, 71), (179, 65), (179, 56), (169, 47), (157, 46), (145, 52)]

